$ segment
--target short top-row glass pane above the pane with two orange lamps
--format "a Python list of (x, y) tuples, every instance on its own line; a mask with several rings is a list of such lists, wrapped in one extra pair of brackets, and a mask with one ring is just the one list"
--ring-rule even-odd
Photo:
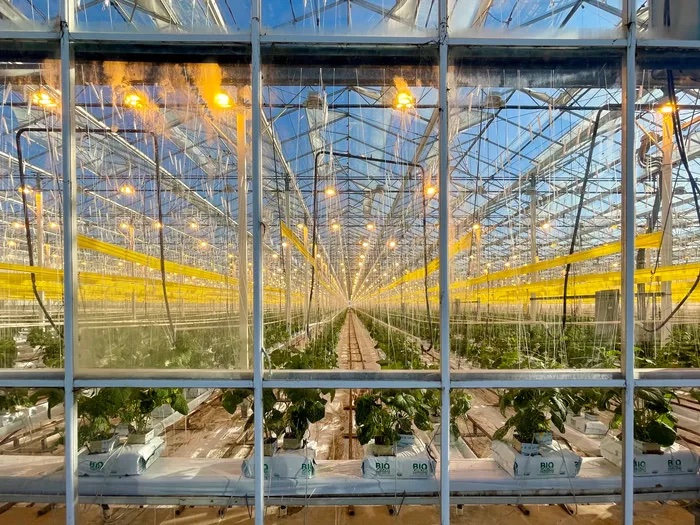
[(80, 0), (79, 31), (140, 33), (249, 33), (250, 0)]

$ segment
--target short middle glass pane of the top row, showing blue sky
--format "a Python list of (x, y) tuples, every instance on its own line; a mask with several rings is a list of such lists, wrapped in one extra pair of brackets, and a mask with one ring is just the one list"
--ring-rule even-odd
[(427, 36), (437, 34), (434, 0), (262, 0), (266, 33)]

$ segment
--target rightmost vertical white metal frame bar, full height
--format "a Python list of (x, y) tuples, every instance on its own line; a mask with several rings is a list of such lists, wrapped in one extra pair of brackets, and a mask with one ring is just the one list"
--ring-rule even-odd
[(622, 330), (621, 365), (625, 378), (622, 447), (622, 522), (634, 521), (634, 236), (635, 150), (634, 114), (637, 48), (636, 5), (623, 2), (623, 26), (627, 48), (622, 62)]

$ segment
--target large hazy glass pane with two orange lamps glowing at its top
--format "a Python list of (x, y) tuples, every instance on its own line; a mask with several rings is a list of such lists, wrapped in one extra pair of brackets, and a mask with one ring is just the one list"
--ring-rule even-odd
[(249, 67), (78, 69), (79, 365), (248, 368)]

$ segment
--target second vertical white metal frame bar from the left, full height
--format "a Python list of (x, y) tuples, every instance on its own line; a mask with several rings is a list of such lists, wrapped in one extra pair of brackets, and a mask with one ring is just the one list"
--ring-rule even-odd
[(255, 524), (264, 525), (265, 510), (263, 506), (265, 478), (263, 470), (263, 382), (262, 382), (262, 344), (263, 344), (263, 250), (262, 250), (262, 134), (261, 122), (261, 59), (260, 59), (260, 7), (261, 0), (252, 2), (251, 44), (252, 44), (252, 139), (251, 167), (253, 183), (253, 417), (254, 461), (255, 461)]

